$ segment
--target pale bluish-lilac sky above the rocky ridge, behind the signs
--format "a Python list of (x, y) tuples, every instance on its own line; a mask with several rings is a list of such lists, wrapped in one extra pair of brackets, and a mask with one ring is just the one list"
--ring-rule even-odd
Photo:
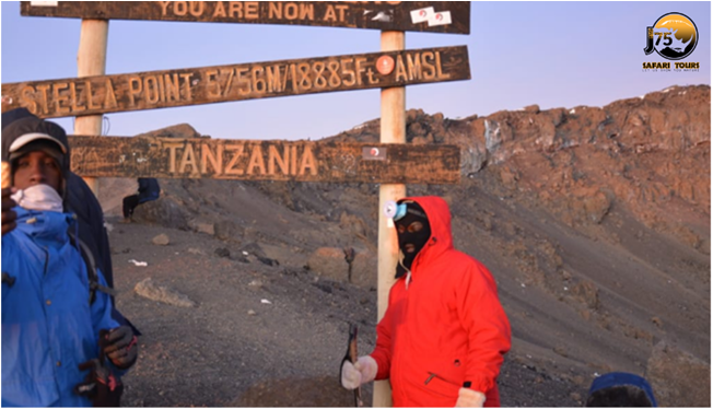
[[(644, 72), (646, 27), (679, 12), (699, 43), (683, 61), (698, 72)], [(80, 20), (24, 17), (2, 2), (3, 83), (77, 77)], [(447, 118), (486, 116), (538, 104), (541, 109), (613, 101), (670, 85), (711, 83), (711, 3), (474, 2), (470, 35), (407, 32), (407, 48), (466, 45), (472, 79), (411, 85), (407, 108)], [(303, 59), (379, 51), (375, 30), (230, 23), (112, 21), (107, 74)], [(222, 139), (319, 139), (379, 116), (379, 91), (226, 102), (105, 115), (109, 136), (188, 122)], [(72, 118), (51, 119), (72, 132)]]

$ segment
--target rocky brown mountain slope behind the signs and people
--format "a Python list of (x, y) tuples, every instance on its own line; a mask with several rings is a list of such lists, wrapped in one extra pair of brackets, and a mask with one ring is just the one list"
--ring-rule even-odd
[[(603, 108), (529, 106), (461, 120), (408, 113), (409, 143), (461, 148), (460, 184), (413, 185), (408, 192), (444, 197), (454, 214), (456, 247), (480, 259), (498, 280), (514, 336), (501, 376), (503, 405), (577, 406), (593, 376), (609, 371), (646, 375), (662, 406), (710, 405), (710, 86), (700, 85), (670, 87)], [(188, 126), (152, 133), (198, 136)], [(378, 120), (332, 139), (377, 141)], [(266, 340), (269, 334), (278, 336), (282, 328), (312, 341), (276, 343), (270, 353), (276, 362), (280, 357), (289, 361), (288, 367), (268, 365), (266, 373), (257, 361), (249, 363), (241, 369), (248, 375), (239, 375), (238, 386), (224, 384), (231, 371), (218, 371), (225, 374), (215, 382), (233, 390), (223, 400), (208, 395), (192, 402), (189, 397), (142, 400), (137, 396), (153, 390), (155, 382), (147, 363), (127, 379), (140, 384), (127, 394), (133, 399), (130, 405), (349, 405), (348, 397), (314, 400), (315, 394), (330, 396), (325, 390), (332, 390), (331, 385), (306, 385), (335, 376), (335, 362), (343, 353), (344, 319), (362, 323), (363, 351), (373, 347), (377, 186), (161, 183), (162, 198), (137, 210), (138, 223), (121, 226), (121, 234), (115, 227), (110, 235), (117, 282), (129, 290), (118, 303), (153, 335), (143, 337), (143, 362), (151, 362), (150, 353), (161, 342), (154, 327), (173, 328), (173, 319), (182, 314), (208, 320), (241, 317), (230, 329), (221, 328), (236, 343), (271, 342)], [(102, 180), (107, 214), (117, 214), (132, 184)], [(139, 248), (159, 230), (183, 237), (184, 248), (163, 256), (163, 249), (152, 252), (151, 244)], [(138, 241), (133, 235), (145, 237)], [(204, 242), (203, 247), (189, 247), (194, 241)], [(219, 252), (220, 257), (215, 249), (227, 255)], [(346, 259), (344, 249), (353, 249), (353, 257)], [(224, 279), (235, 280), (230, 285), (234, 295), (255, 290), (249, 288), (253, 276), (267, 280), (280, 294), (290, 294), (282, 307), (300, 325), (262, 322), (257, 330), (245, 308), (233, 316), (231, 304), (208, 296), (189, 313), (147, 309), (151, 304), (130, 291), (147, 276), (127, 267), (128, 258), (139, 255), (160, 265), (149, 277), (179, 287), (177, 277), (198, 280), (183, 287), (189, 297), (208, 285), (198, 284), (195, 274), (235, 271), (236, 277)], [(164, 271), (166, 264), (173, 270)], [(215, 296), (230, 296), (224, 293), (229, 288), (219, 290)], [(316, 323), (324, 326), (319, 340)], [(220, 354), (231, 353), (220, 351), (232, 346), (219, 342), (211, 347), (218, 355), (206, 359), (224, 361)], [(297, 352), (303, 348), (304, 354)], [(233, 358), (249, 361), (238, 355)], [(304, 359), (309, 369), (301, 366)], [(297, 376), (301, 373), (306, 378)], [(201, 374), (211, 376), (208, 370)], [(302, 394), (285, 386), (297, 378), (303, 379), (297, 383)], [(302, 398), (279, 400), (285, 395)]]

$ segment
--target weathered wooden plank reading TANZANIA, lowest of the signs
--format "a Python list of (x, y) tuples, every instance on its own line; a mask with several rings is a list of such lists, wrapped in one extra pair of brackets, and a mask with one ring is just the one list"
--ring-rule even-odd
[(70, 137), (72, 171), (89, 177), (454, 184), (456, 145)]

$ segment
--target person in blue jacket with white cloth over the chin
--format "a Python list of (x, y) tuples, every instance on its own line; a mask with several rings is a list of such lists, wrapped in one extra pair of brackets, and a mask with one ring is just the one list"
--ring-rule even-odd
[[(37, 117), (2, 129), (12, 184), (2, 188), (5, 407), (118, 406), (118, 376), (138, 357), (131, 328), (112, 318), (108, 294), (91, 291), (84, 259), (70, 239), (77, 225), (63, 208), (68, 150), (65, 130)], [(97, 277), (101, 289), (101, 270)]]

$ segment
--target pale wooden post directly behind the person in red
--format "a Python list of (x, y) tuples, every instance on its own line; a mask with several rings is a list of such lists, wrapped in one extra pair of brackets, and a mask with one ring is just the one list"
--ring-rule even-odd
[[(404, 32), (382, 32), (382, 51), (406, 48)], [(382, 143), (406, 143), (406, 87), (382, 89)], [(388, 305), (388, 292), (394, 284), (398, 262), (396, 231), (387, 226), (384, 204), (406, 196), (406, 185), (383, 184), (378, 189), (378, 283), (377, 319), (381, 320)], [(388, 381), (374, 383), (373, 407), (390, 407), (391, 388)]]

